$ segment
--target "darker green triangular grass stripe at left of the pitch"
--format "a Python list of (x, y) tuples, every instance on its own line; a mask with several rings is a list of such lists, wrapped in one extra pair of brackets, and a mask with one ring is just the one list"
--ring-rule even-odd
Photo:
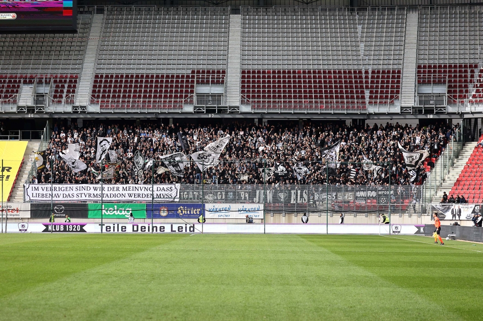
[(0, 298), (184, 237), (4, 234), (0, 236)]

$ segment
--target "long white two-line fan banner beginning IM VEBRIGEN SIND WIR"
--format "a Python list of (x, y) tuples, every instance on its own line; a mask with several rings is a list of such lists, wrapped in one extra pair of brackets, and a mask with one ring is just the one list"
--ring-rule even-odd
[(25, 201), (179, 201), (180, 184), (118, 185), (103, 184), (25, 184)]

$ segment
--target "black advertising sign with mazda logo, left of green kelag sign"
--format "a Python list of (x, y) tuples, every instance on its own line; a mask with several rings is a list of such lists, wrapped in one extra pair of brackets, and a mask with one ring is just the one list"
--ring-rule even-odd
[(87, 218), (87, 203), (31, 203), (30, 215), (32, 218), (48, 218), (50, 213), (54, 217)]

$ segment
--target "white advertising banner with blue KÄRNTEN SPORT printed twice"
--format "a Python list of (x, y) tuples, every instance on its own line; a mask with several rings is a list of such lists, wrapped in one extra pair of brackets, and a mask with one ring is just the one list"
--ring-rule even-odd
[(205, 204), (206, 218), (245, 218), (246, 215), (255, 219), (263, 218), (263, 204)]

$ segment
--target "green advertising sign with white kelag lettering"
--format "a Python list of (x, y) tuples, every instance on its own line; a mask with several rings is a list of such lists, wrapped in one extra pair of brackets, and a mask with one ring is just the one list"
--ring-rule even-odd
[(141, 203), (90, 203), (89, 218), (146, 218), (146, 204)]

